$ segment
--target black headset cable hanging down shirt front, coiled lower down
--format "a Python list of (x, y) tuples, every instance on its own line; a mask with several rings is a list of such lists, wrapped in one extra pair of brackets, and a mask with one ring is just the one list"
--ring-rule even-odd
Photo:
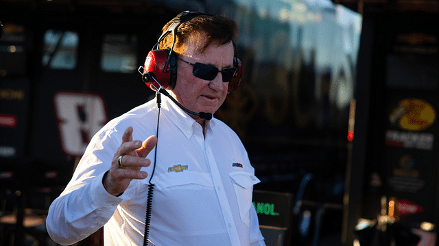
[(150, 176), (150, 187), (148, 187), (147, 193), (147, 202), (146, 202), (146, 217), (145, 217), (145, 232), (143, 236), (143, 246), (148, 245), (148, 238), (150, 236), (150, 222), (151, 222), (151, 213), (152, 213), (152, 195), (154, 193), (154, 184), (151, 183), (152, 176), (154, 176), (154, 172), (156, 171), (156, 163), (157, 163), (157, 144), (158, 144), (158, 122), (160, 122), (160, 108), (162, 105), (161, 94), (160, 92), (156, 92), (156, 102), (158, 107), (158, 115), (157, 115), (157, 143), (156, 150), (154, 152), (154, 166), (152, 167), (152, 173)]

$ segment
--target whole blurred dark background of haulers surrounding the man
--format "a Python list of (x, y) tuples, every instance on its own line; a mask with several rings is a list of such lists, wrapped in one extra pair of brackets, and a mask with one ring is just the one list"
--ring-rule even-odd
[(261, 180), (267, 245), (439, 245), (437, 0), (0, 0), (0, 245), (56, 245), (47, 208), (154, 96), (137, 69), (183, 10), (238, 25), (215, 118)]

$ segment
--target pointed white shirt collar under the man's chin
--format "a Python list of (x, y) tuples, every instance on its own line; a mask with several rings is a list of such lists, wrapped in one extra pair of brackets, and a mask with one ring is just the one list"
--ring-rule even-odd
[[(162, 96), (162, 109), (166, 111), (166, 116), (174, 122), (174, 124), (186, 135), (189, 139), (193, 135), (194, 124), (198, 124), (191, 116), (180, 109), (171, 99), (167, 96)], [(206, 120), (205, 128), (206, 133), (212, 131), (213, 126), (215, 126), (215, 118), (212, 120)]]

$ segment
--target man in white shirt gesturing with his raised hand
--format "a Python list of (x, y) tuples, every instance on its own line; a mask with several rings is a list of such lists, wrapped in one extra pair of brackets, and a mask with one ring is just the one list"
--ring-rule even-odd
[[(235, 68), (235, 29), (230, 18), (206, 14), (178, 27), (177, 77), (169, 94), (182, 107), (215, 113), (222, 105), (228, 93), (223, 77), (230, 77), (222, 71)], [(173, 40), (165, 38), (161, 48), (170, 49)], [(215, 66), (216, 76), (200, 79), (197, 63)], [(259, 180), (239, 137), (215, 118), (189, 115), (162, 99), (160, 109), (147, 102), (93, 137), (49, 208), (51, 238), (69, 245), (105, 225), (105, 245), (142, 245), (148, 230), (149, 245), (265, 245), (252, 206)]]

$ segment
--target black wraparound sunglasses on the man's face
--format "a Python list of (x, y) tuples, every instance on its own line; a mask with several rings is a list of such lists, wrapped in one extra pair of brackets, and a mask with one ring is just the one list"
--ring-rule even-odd
[[(181, 59), (180, 57), (177, 57), (177, 58), (182, 60), (182, 61), (185, 61), (184, 59)], [(218, 72), (221, 72), (222, 81), (229, 82), (232, 79), (235, 72), (237, 71), (237, 68), (225, 68), (223, 70), (219, 70), (218, 68), (216, 68), (214, 66), (202, 64), (200, 62), (196, 62), (195, 64), (191, 64), (189, 61), (185, 61), (185, 62), (187, 64), (193, 66), (193, 70), (192, 70), (193, 76), (200, 78), (200, 79), (208, 80), (208, 81), (213, 81), (213, 79), (215, 79), (217, 77)]]

